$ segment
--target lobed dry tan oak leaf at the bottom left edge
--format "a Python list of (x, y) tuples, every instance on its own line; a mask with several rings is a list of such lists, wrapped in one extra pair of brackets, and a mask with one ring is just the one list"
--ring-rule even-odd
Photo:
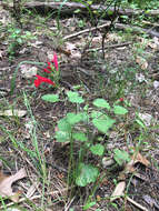
[(26, 177), (27, 177), (27, 173), (24, 169), (20, 169), (16, 174), (9, 175), (9, 177), (0, 172), (0, 195), (2, 198), (8, 197), (13, 202), (18, 202), (19, 194), (21, 193), (21, 191), (12, 192), (11, 185), (17, 180), (20, 180)]

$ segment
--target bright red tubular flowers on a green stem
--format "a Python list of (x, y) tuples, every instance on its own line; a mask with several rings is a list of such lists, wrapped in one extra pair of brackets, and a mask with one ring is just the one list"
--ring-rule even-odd
[(59, 86), (59, 66), (58, 66), (58, 57), (54, 53), (53, 59), (47, 62), (48, 67), (43, 69), (43, 72), (49, 73), (51, 79), (41, 77), (36, 74), (37, 79), (34, 80), (34, 86), (38, 88), (42, 82), (49, 83), (51, 86)]

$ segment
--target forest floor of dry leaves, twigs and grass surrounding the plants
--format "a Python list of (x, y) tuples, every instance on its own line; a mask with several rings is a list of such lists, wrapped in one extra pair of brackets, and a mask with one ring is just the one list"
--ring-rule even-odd
[[(27, 177), (21, 177), (24, 179), (13, 184), (13, 192), (22, 192), (20, 199), (12, 202), (1, 199), (0, 210), (83, 210), (95, 183), (72, 188), (74, 195), (70, 197), (71, 188), (67, 185), (70, 145), (54, 138), (58, 120), (73, 112), (76, 107), (67, 100), (50, 103), (41, 99), (48, 93), (66, 98), (69, 90), (78, 91), (88, 104), (97, 98), (110, 104), (120, 100), (129, 110), (108, 135), (96, 133), (96, 143), (102, 137), (103, 158), (88, 152), (86, 162), (97, 164), (102, 179), (96, 182), (91, 198), (95, 205), (86, 210), (159, 210), (159, 39), (113, 29), (106, 37), (103, 58), (102, 50), (97, 49), (101, 47), (102, 31), (66, 38), (90, 29), (87, 19), (61, 19), (59, 33), (53, 18), (26, 13), (21, 32), (17, 33), (9, 12), (1, 8), (0, 13), (0, 193), (2, 185), (8, 185), (8, 180), (1, 182), (3, 177), (23, 168), (27, 172)], [(16, 42), (13, 33), (18, 38), (21, 33), (24, 36), (16, 53), (11, 50)], [(59, 88), (49, 84), (36, 88), (37, 71), (42, 72), (54, 52), (61, 71)], [(128, 163), (119, 165), (115, 161), (115, 149), (127, 152), (131, 159), (136, 152), (131, 167), (135, 170), (123, 171)], [(77, 144), (74, 153), (78, 151)], [(125, 190), (118, 192), (118, 199), (111, 200), (121, 181)], [(7, 194), (10, 197), (10, 192)]]

